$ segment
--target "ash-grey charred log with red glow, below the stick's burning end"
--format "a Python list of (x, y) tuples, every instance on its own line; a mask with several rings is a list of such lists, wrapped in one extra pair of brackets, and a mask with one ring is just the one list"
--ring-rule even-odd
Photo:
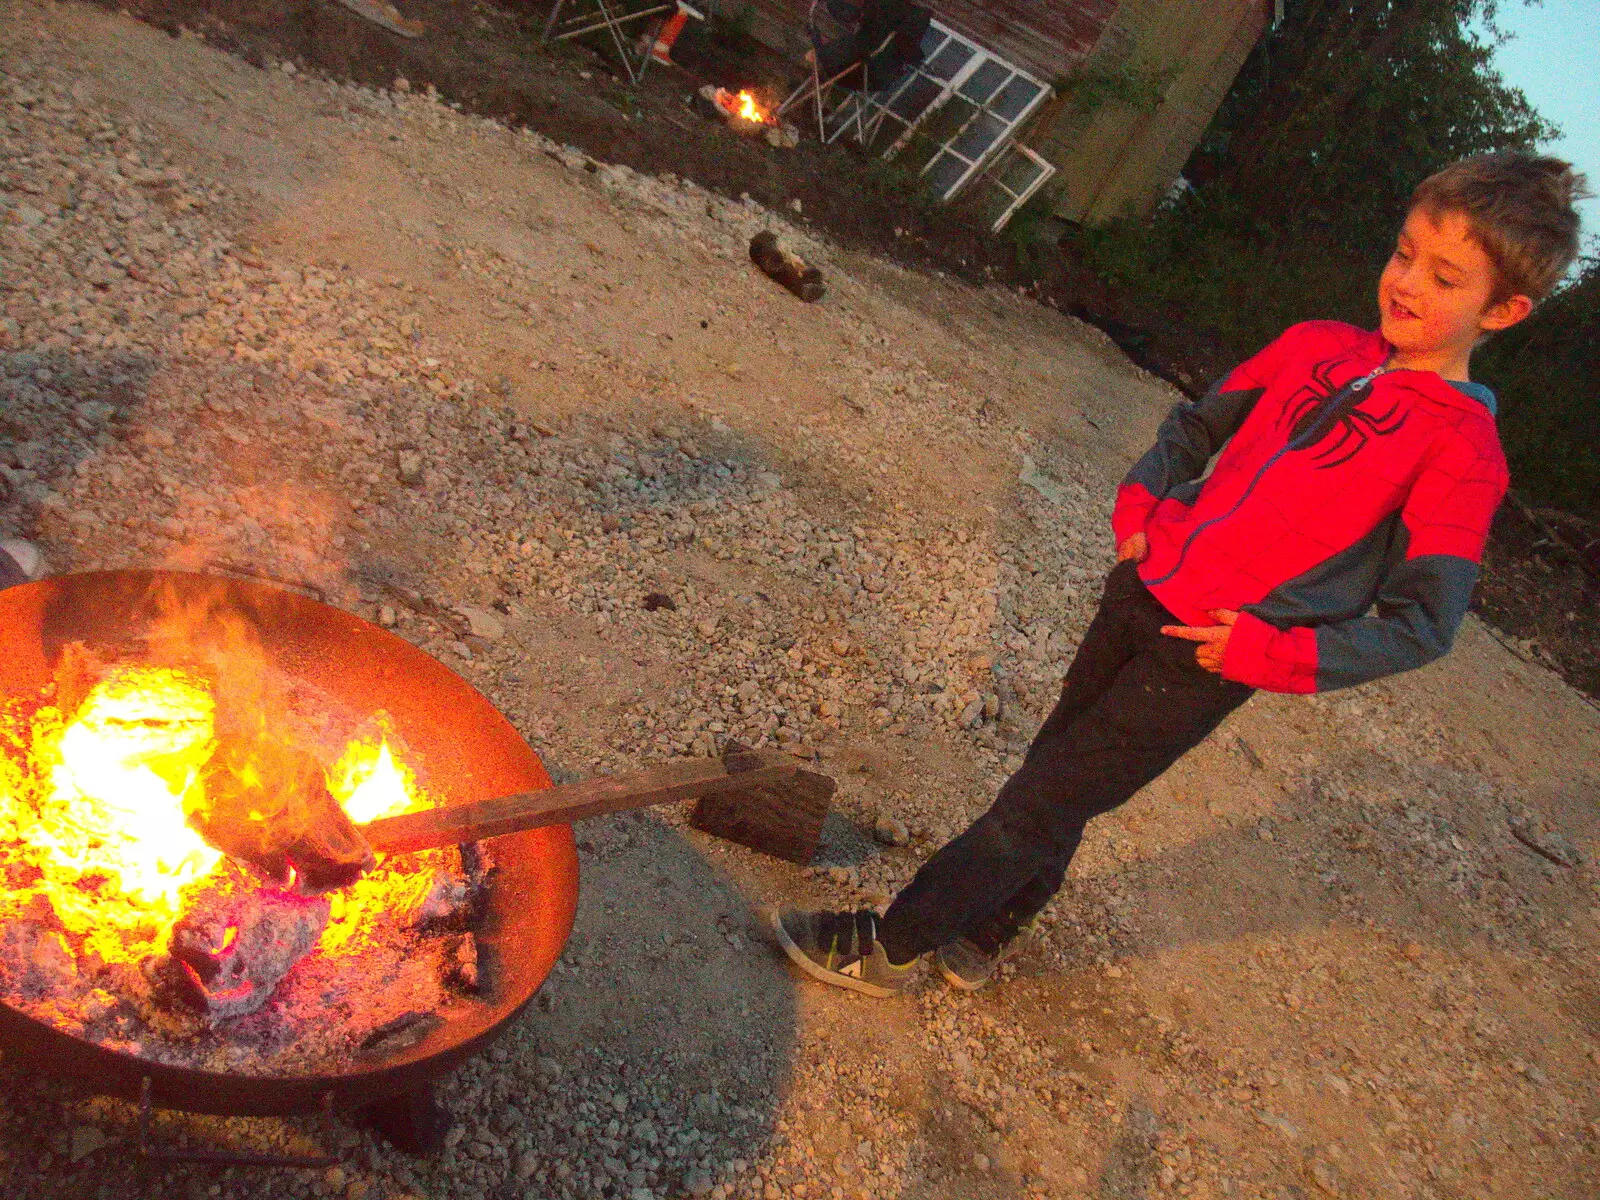
[(197, 904), (173, 926), (179, 995), (213, 1021), (261, 1008), (328, 926), (328, 898), (253, 890)]

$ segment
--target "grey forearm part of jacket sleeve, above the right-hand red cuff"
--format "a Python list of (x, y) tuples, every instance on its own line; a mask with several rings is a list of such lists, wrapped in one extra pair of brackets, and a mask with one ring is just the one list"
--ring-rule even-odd
[(1400, 562), (1378, 589), (1376, 613), (1317, 627), (1317, 691), (1432, 662), (1456, 640), (1478, 565), (1453, 554)]

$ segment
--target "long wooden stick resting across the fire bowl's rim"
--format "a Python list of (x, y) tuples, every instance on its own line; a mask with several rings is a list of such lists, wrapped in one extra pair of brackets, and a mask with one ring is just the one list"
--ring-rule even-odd
[(794, 758), (774, 750), (734, 754), (725, 758), (691, 758), (637, 774), (608, 774), (562, 787), (546, 787), (541, 792), (386, 816), (360, 826), (360, 834), (373, 850), (408, 853), (478, 842), (541, 826), (566, 826), (586, 816), (698, 800), (715, 792), (770, 789), (774, 795), (781, 795), (781, 786), (798, 773)]

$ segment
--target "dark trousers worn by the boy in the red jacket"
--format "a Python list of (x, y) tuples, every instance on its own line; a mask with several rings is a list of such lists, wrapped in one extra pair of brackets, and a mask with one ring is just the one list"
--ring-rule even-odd
[(1195, 662), (1195, 643), (1118, 563), (1061, 701), (994, 806), (928, 859), (894, 898), (878, 938), (894, 962), (966, 936), (994, 946), (1061, 888), (1090, 818), (1109, 813), (1250, 699)]

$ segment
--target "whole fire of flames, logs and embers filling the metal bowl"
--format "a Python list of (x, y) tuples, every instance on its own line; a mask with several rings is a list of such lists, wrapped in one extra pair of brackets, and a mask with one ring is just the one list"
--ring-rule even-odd
[(349, 827), (432, 803), (386, 715), (285, 677), (221, 603), (171, 613), (146, 662), (181, 666), (74, 645), (40, 696), (0, 698), (0, 1000), (126, 1053), (277, 1074), (475, 992), (493, 861), (373, 862)]

